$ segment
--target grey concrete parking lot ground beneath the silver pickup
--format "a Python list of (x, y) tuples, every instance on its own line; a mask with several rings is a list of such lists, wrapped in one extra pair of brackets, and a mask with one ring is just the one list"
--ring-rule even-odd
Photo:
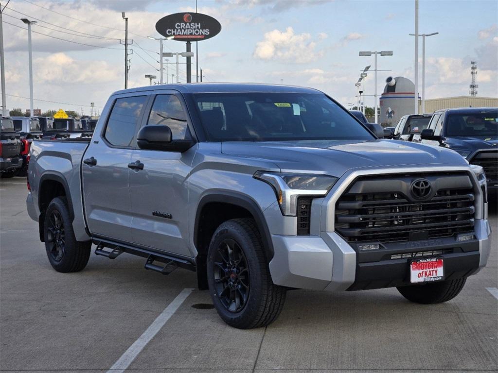
[[(57, 273), (25, 196), (24, 179), (1, 180), (0, 370), (121, 372), (115, 363), (196, 287), (195, 273), (161, 276), (126, 254), (92, 254), (84, 271)], [(209, 307), (207, 291), (185, 290), (126, 372), (497, 371), (496, 207), (490, 220), (488, 267), (447, 303), (409, 303), (395, 288), (294, 290), (275, 323), (238, 330)]]

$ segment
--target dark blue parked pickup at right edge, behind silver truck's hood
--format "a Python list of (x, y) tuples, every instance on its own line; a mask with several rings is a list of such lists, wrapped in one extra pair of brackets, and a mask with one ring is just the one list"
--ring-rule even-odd
[(488, 189), (498, 191), (498, 108), (437, 110), (427, 129), (413, 141), (440, 145), (458, 152), (473, 165), (482, 166)]

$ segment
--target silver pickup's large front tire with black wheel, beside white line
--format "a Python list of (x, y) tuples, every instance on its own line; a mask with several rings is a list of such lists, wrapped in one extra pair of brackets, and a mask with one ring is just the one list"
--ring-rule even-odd
[(211, 239), (208, 284), (214, 306), (228, 325), (251, 329), (280, 314), (286, 289), (275, 285), (253, 219), (222, 223)]

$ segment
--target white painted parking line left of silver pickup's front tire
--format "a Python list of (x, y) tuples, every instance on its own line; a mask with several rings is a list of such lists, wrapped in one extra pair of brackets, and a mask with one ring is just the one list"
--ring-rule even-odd
[(154, 338), (159, 330), (164, 326), (166, 321), (176, 312), (182, 305), (183, 301), (194, 289), (183, 289), (180, 294), (161, 312), (159, 316), (150, 324), (143, 334), (124, 352), (121, 358), (107, 371), (108, 373), (122, 373), (135, 360), (140, 351)]

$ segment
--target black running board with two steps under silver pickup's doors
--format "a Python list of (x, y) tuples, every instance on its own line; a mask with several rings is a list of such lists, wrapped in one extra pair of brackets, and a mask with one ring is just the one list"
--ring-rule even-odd
[[(163, 275), (169, 275), (178, 267), (193, 272), (196, 271), (194, 259), (189, 260), (187, 258), (174, 256), (170, 253), (161, 253), (158, 251), (142, 247), (130, 246), (97, 237), (93, 237), (92, 242), (97, 245), (97, 248), (95, 249), (96, 255), (105, 256), (109, 259), (116, 259), (123, 253), (136, 255), (147, 259), (144, 266), (146, 270), (156, 271)], [(110, 251), (104, 250), (104, 248), (110, 249)], [(163, 265), (154, 264), (154, 262), (159, 262)]]

